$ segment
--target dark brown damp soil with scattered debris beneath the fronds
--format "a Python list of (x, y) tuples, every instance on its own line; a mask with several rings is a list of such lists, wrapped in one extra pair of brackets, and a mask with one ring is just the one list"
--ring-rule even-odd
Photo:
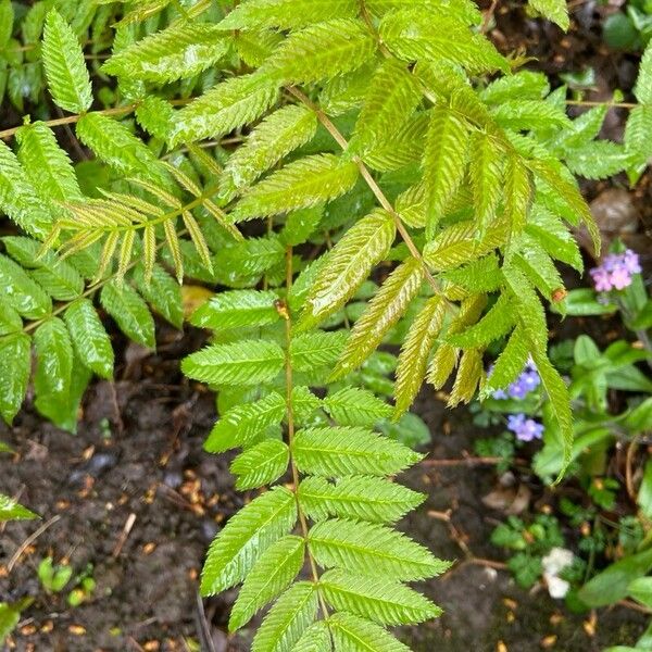
[[(49, 524), (11, 573), (7, 566), (14, 553), (41, 524), (12, 523), (0, 535), (0, 595), (35, 598), (13, 649), (187, 650), (184, 639), (200, 640), (202, 630), (210, 631), (218, 652), (249, 649), (247, 632), (226, 634), (235, 593), (208, 600), (205, 612), (197, 600), (208, 543), (243, 497), (231, 490), (226, 457), (201, 449), (214, 419), (213, 401), (175, 384), (178, 347), (173, 341), (150, 358), (129, 347), (131, 364), (123, 367), (128, 377), (114, 386), (115, 400), (111, 385), (95, 386), (77, 436), (43, 424), (28, 410), (12, 430), (0, 431), (18, 451), (2, 461), (2, 489), (20, 494)], [(417, 410), (434, 435), (430, 459), (460, 459), (472, 450), (467, 415), (444, 413), (430, 392)], [(488, 537), (502, 514), (481, 502), (493, 478), (479, 466), (417, 467), (408, 482), (429, 499), (404, 529), (446, 559), (464, 559), (460, 542), (476, 556), (496, 559)], [(448, 510), (450, 524), (442, 519)], [(36, 567), (47, 555), (67, 560), (77, 570), (93, 565), (98, 586), (89, 603), (71, 609), (65, 593), (42, 590)], [(505, 572), (472, 563), (459, 563), (425, 590), (447, 613), (401, 634), (416, 652), (489, 652), (501, 641), (513, 652), (540, 650), (542, 641), (551, 650), (591, 652), (632, 642), (643, 622), (625, 609), (605, 611), (590, 637), (582, 627), (587, 616), (561, 615), (561, 604), (543, 590), (528, 594)]]

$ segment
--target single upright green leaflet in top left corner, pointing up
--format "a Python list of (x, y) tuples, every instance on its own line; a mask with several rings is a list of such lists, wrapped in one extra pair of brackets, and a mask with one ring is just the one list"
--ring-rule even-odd
[(46, 18), (43, 66), (52, 98), (71, 113), (84, 113), (92, 104), (92, 87), (84, 52), (70, 25), (55, 10)]

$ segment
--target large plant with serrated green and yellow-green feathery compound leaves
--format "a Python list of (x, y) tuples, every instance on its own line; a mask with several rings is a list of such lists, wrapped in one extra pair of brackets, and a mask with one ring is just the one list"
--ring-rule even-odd
[[(568, 25), (560, 0), (530, 9)], [(570, 120), (566, 88), (500, 54), (469, 0), (17, 10), (0, 0), (1, 92), (21, 109), (47, 80), (60, 116), (0, 131), (0, 206), (23, 231), (0, 255), (2, 416), (34, 348), (36, 408), (74, 428), (91, 375), (112, 375), (104, 312), (153, 347), (150, 306), (180, 327), (184, 275), (220, 288), (183, 371), (218, 392), (206, 449), (243, 449), (237, 487), (276, 485), (217, 535), (203, 594), (242, 584), (234, 630), (273, 602), (254, 652), (404, 650), (384, 626), (439, 613), (404, 582), (447, 563), (392, 529), (423, 499), (392, 480), (419, 455), (378, 430), (425, 379), (454, 374), (456, 405), (531, 355), (569, 454), (543, 302), (563, 303), (555, 261), (581, 271), (569, 226), (599, 248), (574, 174), (635, 179), (652, 153), (652, 53), (619, 145), (595, 140), (607, 105)]]

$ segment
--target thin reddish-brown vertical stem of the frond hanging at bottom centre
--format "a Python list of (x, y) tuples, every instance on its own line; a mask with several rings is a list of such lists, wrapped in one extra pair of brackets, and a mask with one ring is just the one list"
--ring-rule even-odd
[[(292, 247), (288, 247), (286, 249), (286, 291), (287, 294), (290, 293), (292, 289)], [(293, 375), (292, 375), (292, 360), (290, 356), (290, 347), (292, 346), (292, 317), (290, 314), (290, 308), (287, 303), (280, 303), (277, 306), (277, 310), (281, 317), (285, 319), (285, 373), (286, 373), (286, 416), (288, 419), (288, 447), (290, 449), (290, 468), (292, 472), (292, 485), (293, 485), (293, 493), (294, 499), (297, 501), (297, 514), (299, 516), (299, 524), (301, 527), (301, 535), (305, 542), (305, 553), (308, 555), (308, 561), (310, 564), (310, 570), (315, 585), (319, 584), (319, 572), (317, 569), (317, 564), (310, 551), (309, 543), (309, 527), (308, 519), (303, 510), (301, 507), (301, 502), (299, 500), (299, 468), (297, 467), (297, 463), (294, 462), (294, 456), (292, 454), (292, 443), (294, 441), (294, 410), (292, 408), (292, 387), (293, 387)], [(324, 614), (324, 618), (328, 618), (328, 607), (324, 602), (322, 595), (318, 595), (319, 605), (322, 612)]]

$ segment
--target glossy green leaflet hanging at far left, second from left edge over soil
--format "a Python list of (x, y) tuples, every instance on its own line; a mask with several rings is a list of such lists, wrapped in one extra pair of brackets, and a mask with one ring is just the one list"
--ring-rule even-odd
[(65, 324), (58, 317), (43, 322), (34, 331), (34, 390), (37, 401), (65, 403), (73, 375), (73, 346)]

